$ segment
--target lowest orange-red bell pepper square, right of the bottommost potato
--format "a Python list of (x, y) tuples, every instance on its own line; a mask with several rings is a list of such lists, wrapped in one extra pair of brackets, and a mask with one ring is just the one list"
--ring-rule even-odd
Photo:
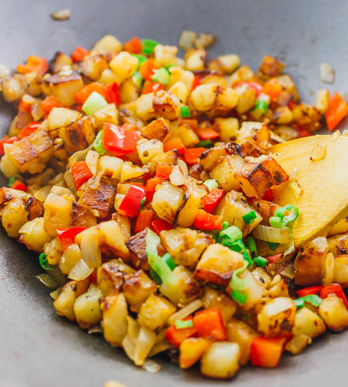
[(275, 367), (280, 360), (285, 341), (285, 337), (266, 338), (259, 336), (254, 338), (250, 347), (251, 364), (260, 367)]

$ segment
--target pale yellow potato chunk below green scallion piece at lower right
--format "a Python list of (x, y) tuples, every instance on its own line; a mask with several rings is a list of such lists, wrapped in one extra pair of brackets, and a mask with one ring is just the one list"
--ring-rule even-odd
[(295, 323), (292, 329), (294, 336), (306, 335), (312, 339), (321, 335), (326, 330), (323, 320), (307, 308), (301, 308), (296, 312)]

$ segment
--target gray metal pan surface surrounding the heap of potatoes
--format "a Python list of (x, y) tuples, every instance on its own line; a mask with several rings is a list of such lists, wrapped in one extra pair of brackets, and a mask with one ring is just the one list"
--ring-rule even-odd
[[(71, 9), (70, 21), (49, 17), (63, 8)], [(78, 45), (91, 47), (106, 33), (123, 41), (138, 35), (177, 44), (181, 30), (191, 29), (217, 35), (211, 55), (238, 53), (253, 69), (263, 55), (277, 56), (302, 98), (313, 102), (313, 92), (324, 87), (322, 62), (336, 70), (330, 91), (348, 90), (347, 14), (345, 0), (0, 0), (0, 62), (14, 67), (29, 54), (70, 53)], [(0, 108), (1, 134), (11, 115)], [(101, 337), (57, 316), (49, 292), (34, 278), (41, 272), (37, 259), (2, 229), (0, 238), (0, 386), (99, 387), (109, 379), (127, 387), (346, 385), (348, 333), (327, 334), (301, 355), (283, 356), (275, 370), (244, 368), (230, 382), (204, 379), (166, 359), (159, 359), (160, 373), (146, 373)]]

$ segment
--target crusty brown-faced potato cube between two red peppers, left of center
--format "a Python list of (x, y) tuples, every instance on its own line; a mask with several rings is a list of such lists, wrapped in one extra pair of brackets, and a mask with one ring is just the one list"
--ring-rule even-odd
[(89, 208), (98, 218), (105, 218), (113, 207), (116, 195), (116, 187), (100, 181), (96, 189), (85, 187), (81, 204)]

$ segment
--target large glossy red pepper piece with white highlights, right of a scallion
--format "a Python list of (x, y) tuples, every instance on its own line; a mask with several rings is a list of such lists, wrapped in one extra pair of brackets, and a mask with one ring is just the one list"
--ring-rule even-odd
[(106, 151), (113, 153), (132, 153), (136, 149), (140, 132), (137, 130), (125, 130), (117, 125), (104, 123), (102, 142)]

